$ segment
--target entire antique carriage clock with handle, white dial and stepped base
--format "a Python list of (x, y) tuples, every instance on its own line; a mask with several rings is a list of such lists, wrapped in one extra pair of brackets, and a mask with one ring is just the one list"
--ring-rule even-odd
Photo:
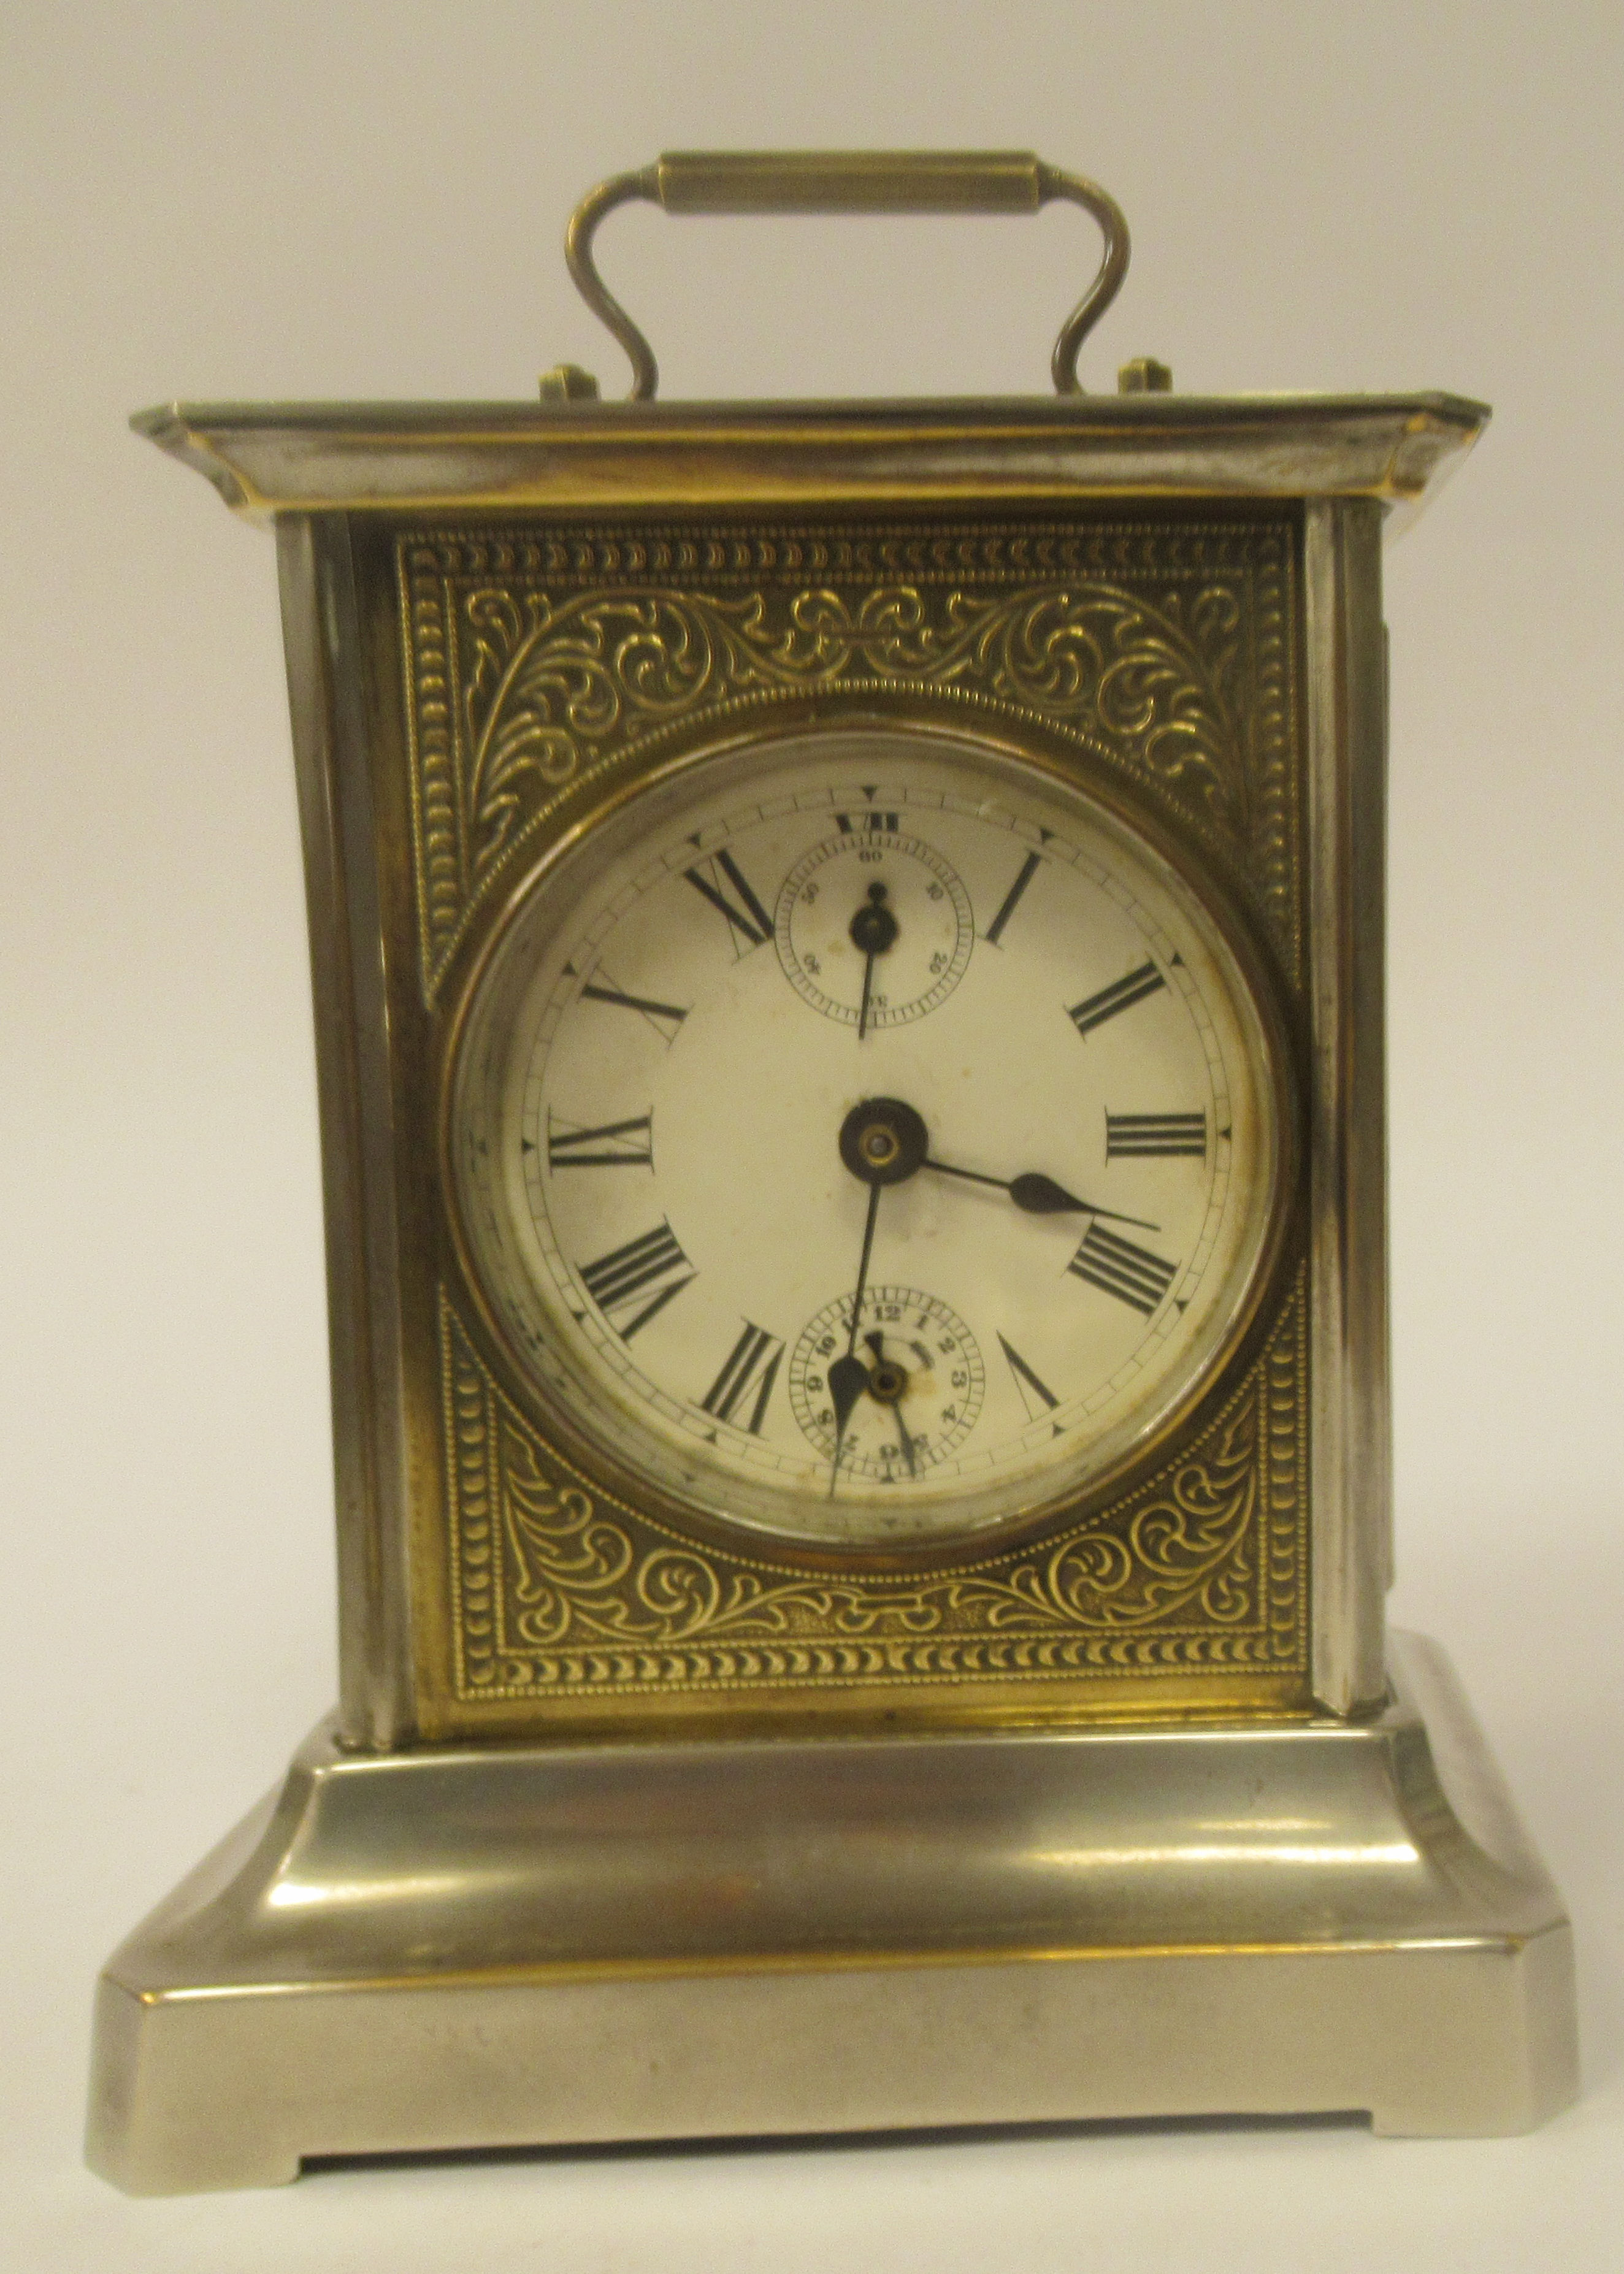
[[(669, 214), (1103, 232), (1051, 398), (655, 402)], [(530, 405), (134, 425), (280, 548), (341, 1703), (109, 1960), (91, 2163), (1574, 2090), (1383, 1633), (1381, 537), (1456, 396), (1076, 377), (1030, 155), (673, 155)]]

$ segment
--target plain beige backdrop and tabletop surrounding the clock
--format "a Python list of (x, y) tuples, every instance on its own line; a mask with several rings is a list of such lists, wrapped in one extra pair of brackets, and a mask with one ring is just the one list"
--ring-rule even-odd
[[(5, 2201), (30, 2269), (1617, 2263), (1619, 473), (1610, 0), (41, 5), (0, 27)], [(171, 393), (525, 396), (680, 146), (1030, 146), (1124, 200), (1085, 352), (1456, 387), (1390, 559), (1394, 1610), (1574, 1906), (1588, 2097), (1522, 2142), (1146, 2128), (541, 2158), (125, 2204), (89, 1987), (332, 1694), (318, 1169), (273, 553), (125, 432)], [(671, 396), (1026, 391), (1087, 223), (619, 216)], [(1610, 2240), (1608, 2240), (1610, 2238)]]

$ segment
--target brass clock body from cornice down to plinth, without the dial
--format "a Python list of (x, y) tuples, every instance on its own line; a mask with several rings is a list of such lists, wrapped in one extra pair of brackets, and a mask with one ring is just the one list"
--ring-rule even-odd
[[(259, 489), (264, 430), (157, 425), (282, 548), (346, 1740), (1381, 1699), (1383, 505), (1306, 491), (1347, 480), (1353, 434), (1369, 478), (1419, 484), (1394, 457), (1431, 471), (1478, 414), (1221, 416), (364, 412), (321, 509)], [(309, 491), (321, 430), (300, 441)], [(1281, 455), (1294, 493), (1271, 496)], [(1042, 1524), (912, 1553), (707, 1524), (571, 1439), (455, 1226), (457, 1037), (537, 860), (660, 766), (810, 725), (983, 737), (1080, 782), (1199, 885), (1276, 1032), (1267, 1269), (1199, 1403)]]

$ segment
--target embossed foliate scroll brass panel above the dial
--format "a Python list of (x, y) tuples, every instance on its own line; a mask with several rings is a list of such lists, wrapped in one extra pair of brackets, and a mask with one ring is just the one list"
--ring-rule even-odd
[(403, 539), (398, 573), (430, 991), (484, 885), (569, 785), (676, 730), (837, 689), (1035, 719), (1140, 778), (1253, 873), (1296, 964), (1278, 523), (885, 541), (446, 532)]

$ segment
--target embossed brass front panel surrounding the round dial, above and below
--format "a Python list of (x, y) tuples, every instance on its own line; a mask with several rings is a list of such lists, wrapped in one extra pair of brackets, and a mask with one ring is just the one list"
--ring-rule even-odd
[[(1299, 543), (1283, 507), (396, 528), (362, 582), (389, 575), (398, 623), (380, 716), (403, 732), (373, 764), (409, 773), (414, 937), (387, 948), (428, 1039), (400, 1041), (423, 1069), (403, 1160), (432, 1151), (446, 1037), (537, 855), (660, 757), (807, 716), (955, 719), (1117, 798), (1215, 880), (1299, 1048)], [(1308, 1703), (1299, 1228), (1224, 1378), (1105, 1505), (994, 1553), (842, 1567), (716, 1544), (548, 1442), (439, 1210), (403, 1301), (407, 1378), (439, 1385), (416, 1494), (444, 1503), (412, 1535), (425, 1733)]]

